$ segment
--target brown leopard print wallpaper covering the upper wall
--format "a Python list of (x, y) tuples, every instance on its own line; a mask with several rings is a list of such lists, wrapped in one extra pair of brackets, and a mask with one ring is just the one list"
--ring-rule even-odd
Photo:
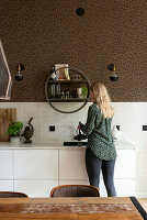
[[(147, 101), (146, 0), (1, 0), (0, 30), (13, 77), (10, 101), (46, 101), (45, 81), (59, 63), (105, 84), (114, 102)], [(19, 63), (25, 65), (20, 82)]]

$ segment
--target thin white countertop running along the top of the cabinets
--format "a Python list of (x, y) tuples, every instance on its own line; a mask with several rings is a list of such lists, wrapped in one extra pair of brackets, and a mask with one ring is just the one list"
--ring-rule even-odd
[[(116, 150), (131, 150), (135, 148), (135, 145), (128, 141), (125, 140), (120, 140), (115, 141), (115, 146)], [(79, 150), (79, 148), (86, 148), (86, 146), (64, 146), (64, 141), (63, 142), (49, 142), (46, 144), (41, 144), (41, 143), (32, 143), (32, 144), (15, 144), (15, 143), (10, 143), (10, 142), (0, 142), (0, 150)]]

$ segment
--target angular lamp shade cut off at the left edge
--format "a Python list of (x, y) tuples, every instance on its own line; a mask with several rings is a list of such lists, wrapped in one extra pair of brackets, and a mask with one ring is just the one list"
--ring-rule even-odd
[(9, 100), (11, 97), (12, 77), (7, 57), (0, 40), (0, 99)]

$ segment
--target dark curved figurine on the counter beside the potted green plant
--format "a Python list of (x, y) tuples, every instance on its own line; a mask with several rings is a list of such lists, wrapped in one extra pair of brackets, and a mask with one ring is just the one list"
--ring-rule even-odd
[(24, 136), (24, 139), (26, 139), (26, 140), (23, 142), (24, 144), (30, 144), (30, 143), (32, 143), (31, 138), (33, 136), (33, 133), (34, 133), (34, 128), (33, 128), (33, 125), (31, 124), (32, 120), (33, 120), (33, 118), (31, 118), (31, 119), (29, 120), (29, 123), (27, 123), (29, 127), (25, 127), (25, 130), (24, 130), (23, 134), (21, 135), (21, 136)]

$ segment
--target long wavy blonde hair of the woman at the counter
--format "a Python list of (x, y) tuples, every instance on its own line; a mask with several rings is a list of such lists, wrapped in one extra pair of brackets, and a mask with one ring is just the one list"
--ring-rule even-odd
[(90, 86), (90, 90), (93, 91), (94, 103), (101, 109), (104, 118), (112, 118), (114, 116), (114, 109), (111, 107), (111, 98), (105, 86), (97, 81)]

